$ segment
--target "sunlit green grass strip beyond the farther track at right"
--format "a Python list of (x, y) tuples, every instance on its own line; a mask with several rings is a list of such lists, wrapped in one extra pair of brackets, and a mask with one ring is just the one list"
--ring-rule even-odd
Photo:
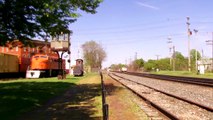
[(152, 72), (153, 74), (164, 74), (173, 76), (187, 76), (187, 77), (200, 77), (200, 78), (211, 78), (213, 79), (213, 73), (196, 74), (195, 72), (189, 71), (159, 71)]

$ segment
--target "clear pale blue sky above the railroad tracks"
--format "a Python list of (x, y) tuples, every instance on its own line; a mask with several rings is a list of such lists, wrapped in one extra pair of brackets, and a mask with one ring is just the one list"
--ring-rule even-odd
[(187, 57), (187, 16), (191, 31), (198, 30), (190, 36), (190, 48), (211, 57), (211, 46), (205, 41), (212, 39), (212, 5), (212, 0), (104, 0), (96, 14), (79, 12), (81, 17), (70, 25), (72, 63), (82, 58), (81, 45), (90, 40), (105, 49), (104, 67), (128, 64), (136, 53), (144, 60), (169, 57), (168, 37)]

